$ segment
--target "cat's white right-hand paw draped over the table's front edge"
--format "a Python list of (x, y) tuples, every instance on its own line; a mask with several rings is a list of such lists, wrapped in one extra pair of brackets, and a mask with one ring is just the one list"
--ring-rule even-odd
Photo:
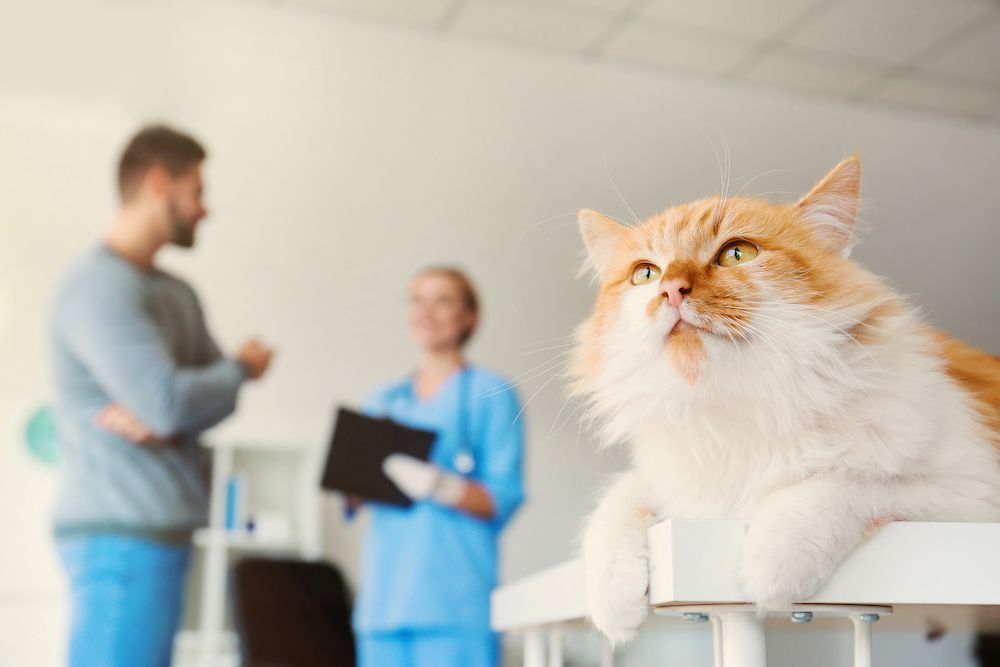
[(751, 524), (743, 541), (740, 582), (762, 611), (784, 611), (815, 593), (839, 559), (809, 535)]

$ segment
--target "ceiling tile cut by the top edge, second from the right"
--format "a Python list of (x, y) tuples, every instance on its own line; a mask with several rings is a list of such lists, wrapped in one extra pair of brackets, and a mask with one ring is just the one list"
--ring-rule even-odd
[(653, 0), (643, 16), (758, 40), (771, 39), (812, 11), (816, 0)]

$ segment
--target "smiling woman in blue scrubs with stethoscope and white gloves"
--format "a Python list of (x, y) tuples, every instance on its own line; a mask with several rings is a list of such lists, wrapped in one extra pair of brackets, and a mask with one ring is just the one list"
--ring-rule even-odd
[(419, 367), (366, 404), (438, 436), (429, 463), (395, 455), (384, 464), (414, 505), (370, 505), (354, 617), (361, 667), (497, 665), (490, 591), (497, 538), (523, 497), (523, 436), (513, 390), (463, 355), (478, 320), (463, 273), (417, 275), (408, 328)]

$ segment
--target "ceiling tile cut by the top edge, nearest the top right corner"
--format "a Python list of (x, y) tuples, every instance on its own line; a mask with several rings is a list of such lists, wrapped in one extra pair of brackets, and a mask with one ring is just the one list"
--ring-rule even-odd
[(978, 0), (841, 0), (788, 41), (804, 48), (901, 64), (993, 11), (990, 4)]

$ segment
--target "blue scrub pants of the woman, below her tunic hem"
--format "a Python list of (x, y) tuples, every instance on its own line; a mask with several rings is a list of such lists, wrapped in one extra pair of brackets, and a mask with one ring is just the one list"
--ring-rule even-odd
[(358, 667), (497, 667), (497, 637), (478, 630), (358, 633)]

